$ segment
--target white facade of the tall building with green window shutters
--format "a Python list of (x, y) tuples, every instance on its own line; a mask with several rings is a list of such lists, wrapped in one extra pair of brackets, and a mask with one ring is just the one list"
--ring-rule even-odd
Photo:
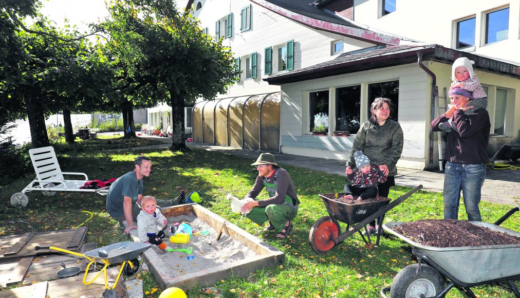
[[(198, 2), (195, 1), (194, 6)], [(241, 81), (231, 86), (227, 94), (218, 96), (219, 98), (280, 90), (280, 86), (268, 85), (267, 82), (262, 81), (262, 79), (268, 77), (264, 74), (264, 53), (268, 46), (276, 46), (294, 40), (294, 69), (313, 66), (339, 56), (331, 56), (331, 42), (335, 40), (343, 39), (343, 53), (373, 46), (373, 44), (341, 35), (310, 29), (247, 0), (201, 0), (200, 2), (202, 8), (194, 11), (193, 15), (200, 19), (202, 28), (207, 27), (210, 35), (214, 37), (215, 22), (232, 12), (232, 36), (224, 38), (223, 44), (231, 47), (235, 57), (250, 55), (255, 51), (258, 55), (257, 78), (244, 81), (242, 75)], [(240, 32), (241, 9), (250, 4), (252, 5), (251, 30)], [(221, 23), (221, 28), (222, 25)], [(276, 56), (274, 51), (272, 56), (273, 58)], [(241, 61), (242, 69), (245, 63), (243, 60)], [(276, 72), (274, 69), (275, 66), (273, 65), (273, 73)]]

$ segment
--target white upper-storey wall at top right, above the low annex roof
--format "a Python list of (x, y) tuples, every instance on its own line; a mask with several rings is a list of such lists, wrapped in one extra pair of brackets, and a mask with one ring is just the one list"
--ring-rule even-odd
[[(378, 18), (382, 0), (355, 0), (354, 20), (379, 30), (455, 48), (456, 23), (475, 16), (475, 49), (472, 53), (520, 62), (520, 2), (505, 0), (397, 0), (396, 11)], [(508, 40), (484, 45), (485, 12), (509, 5)]]

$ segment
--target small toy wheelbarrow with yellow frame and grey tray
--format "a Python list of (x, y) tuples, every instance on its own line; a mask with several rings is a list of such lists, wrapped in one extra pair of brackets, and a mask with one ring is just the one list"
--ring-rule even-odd
[[(43, 249), (51, 249), (56, 250), (68, 254), (73, 254), (77, 256), (84, 257), (86, 260), (90, 261), (87, 265), (87, 268), (85, 269), (85, 275), (83, 276), (83, 284), (91, 284), (93, 283), (101, 273), (105, 273), (105, 288), (110, 289), (108, 286), (108, 275), (107, 275), (107, 268), (109, 265), (117, 264), (117, 263), (123, 263), (121, 264), (121, 269), (119, 270), (119, 274), (115, 279), (114, 285), (112, 286), (112, 289), (115, 288), (116, 284), (118, 284), (119, 277), (121, 276), (121, 273), (124, 273), (127, 276), (133, 275), (137, 272), (139, 269), (139, 260), (137, 259), (137, 256), (139, 256), (141, 253), (146, 251), (151, 247), (152, 244), (150, 243), (137, 243), (137, 242), (131, 242), (131, 241), (124, 241), (124, 242), (118, 242), (110, 245), (106, 245), (104, 247), (89, 250), (87, 252), (84, 252), (83, 254), (57, 248), (57, 247), (35, 247), (35, 250), (43, 250)], [(99, 271), (96, 276), (90, 281), (86, 281), (88, 270), (90, 269), (90, 266), (94, 263), (103, 263), (105, 266), (101, 271)]]

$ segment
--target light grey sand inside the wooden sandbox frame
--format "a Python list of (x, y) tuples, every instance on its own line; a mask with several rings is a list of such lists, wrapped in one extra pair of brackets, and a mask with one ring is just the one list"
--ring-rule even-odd
[[(176, 244), (170, 242), (170, 226), (174, 223), (187, 223), (193, 228), (193, 232), (209, 231), (208, 235), (192, 235), (190, 241), (185, 244)], [(220, 229), (220, 227), (219, 227)], [(174, 272), (174, 277), (179, 277), (185, 274), (194, 273), (203, 269), (220, 266), (227, 263), (233, 263), (245, 258), (256, 255), (254, 251), (246, 247), (243, 243), (235, 241), (233, 238), (225, 234), (225, 231), (220, 236), (218, 241), (215, 241), (218, 231), (214, 230), (210, 225), (199, 219), (194, 215), (178, 216), (168, 218), (168, 228), (166, 229), (166, 237), (163, 241), (170, 245), (170, 247), (177, 249), (188, 247), (193, 248), (193, 252), (187, 255), (185, 252), (165, 252), (153, 245), (153, 250), (157, 252)], [(188, 256), (194, 256), (188, 260)]]

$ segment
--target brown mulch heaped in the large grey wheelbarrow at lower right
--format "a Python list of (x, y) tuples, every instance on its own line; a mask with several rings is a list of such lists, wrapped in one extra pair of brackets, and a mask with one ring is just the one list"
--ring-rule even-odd
[(423, 219), (394, 230), (414, 242), (437, 248), (520, 244), (520, 237), (455, 219)]

